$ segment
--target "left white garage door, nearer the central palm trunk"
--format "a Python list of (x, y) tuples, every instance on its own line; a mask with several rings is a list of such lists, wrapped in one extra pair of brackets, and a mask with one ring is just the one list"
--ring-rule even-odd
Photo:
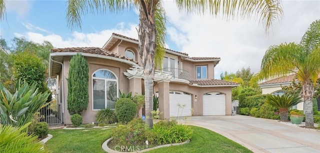
[[(170, 117), (191, 115), (191, 95), (189, 93), (181, 91), (170, 91), (169, 95)], [(180, 105), (180, 107), (178, 105)]]

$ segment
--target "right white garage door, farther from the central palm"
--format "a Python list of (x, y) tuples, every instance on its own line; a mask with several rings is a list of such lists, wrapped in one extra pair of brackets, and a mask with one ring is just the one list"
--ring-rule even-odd
[(203, 94), (203, 115), (225, 115), (225, 94), (220, 92)]

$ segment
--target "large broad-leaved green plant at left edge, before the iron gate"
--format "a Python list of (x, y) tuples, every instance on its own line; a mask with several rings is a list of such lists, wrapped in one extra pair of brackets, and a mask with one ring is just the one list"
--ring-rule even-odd
[(11, 94), (0, 83), (0, 124), (23, 126), (30, 122), (32, 116), (45, 104), (49, 92), (38, 93), (35, 84), (29, 86), (26, 81), (16, 83), (16, 91)]

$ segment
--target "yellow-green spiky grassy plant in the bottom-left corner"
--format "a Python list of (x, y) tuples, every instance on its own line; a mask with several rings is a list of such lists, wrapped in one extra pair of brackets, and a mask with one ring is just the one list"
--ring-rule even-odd
[(0, 124), (0, 152), (48, 152), (37, 136), (24, 132), (29, 124), (21, 127)]

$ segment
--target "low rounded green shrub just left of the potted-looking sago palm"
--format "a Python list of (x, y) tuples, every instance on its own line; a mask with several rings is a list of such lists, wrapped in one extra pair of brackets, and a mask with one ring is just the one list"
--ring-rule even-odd
[(278, 108), (274, 107), (268, 103), (264, 103), (257, 112), (259, 117), (268, 119), (279, 119)]

